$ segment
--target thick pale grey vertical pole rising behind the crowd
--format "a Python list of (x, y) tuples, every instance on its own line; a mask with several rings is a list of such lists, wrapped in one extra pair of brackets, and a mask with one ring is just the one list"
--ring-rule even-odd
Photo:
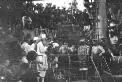
[(106, 38), (106, 0), (98, 1), (98, 25), (96, 26), (96, 33), (98, 40)]

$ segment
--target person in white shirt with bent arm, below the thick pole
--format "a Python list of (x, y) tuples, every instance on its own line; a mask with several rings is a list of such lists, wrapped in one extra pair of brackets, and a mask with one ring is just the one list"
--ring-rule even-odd
[(105, 53), (105, 49), (98, 40), (93, 41), (93, 46), (91, 49), (91, 60), (95, 66), (95, 75), (101, 76), (103, 73), (102, 68), (102, 56)]

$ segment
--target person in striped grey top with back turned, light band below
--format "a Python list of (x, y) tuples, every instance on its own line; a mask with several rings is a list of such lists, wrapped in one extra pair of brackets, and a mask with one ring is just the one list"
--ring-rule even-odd
[(78, 47), (78, 57), (80, 61), (80, 69), (82, 79), (86, 80), (88, 76), (88, 58), (90, 47), (86, 44), (85, 38), (80, 40), (80, 46)]

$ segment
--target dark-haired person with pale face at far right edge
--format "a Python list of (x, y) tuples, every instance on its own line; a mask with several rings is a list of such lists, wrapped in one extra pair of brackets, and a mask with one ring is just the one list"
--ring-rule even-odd
[(119, 44), (119, 38), (115, 31), (111, 31), (109, 34), (109, 45), (107, 46), (107, 55), (110, 55), (110, 68), (112, 74), (118, 74), (121, 72), (121, 44)]

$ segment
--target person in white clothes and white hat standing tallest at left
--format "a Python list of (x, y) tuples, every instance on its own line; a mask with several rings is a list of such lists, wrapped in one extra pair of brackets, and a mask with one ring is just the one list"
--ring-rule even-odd
[(48, 48), (48, 42), (46, 34), (40, 34), (39, 38), (37, 39), (39, 41), (36, 45), (36, 62), (37, 62), (37, 72), (39, 73), (38, 76), (41, 77), (42, 82), (44, 82), (44, 77), (46, 76), (46, 70), (48, 69), (48, 63), (47, 63), (47, 55), (46, 51)]

